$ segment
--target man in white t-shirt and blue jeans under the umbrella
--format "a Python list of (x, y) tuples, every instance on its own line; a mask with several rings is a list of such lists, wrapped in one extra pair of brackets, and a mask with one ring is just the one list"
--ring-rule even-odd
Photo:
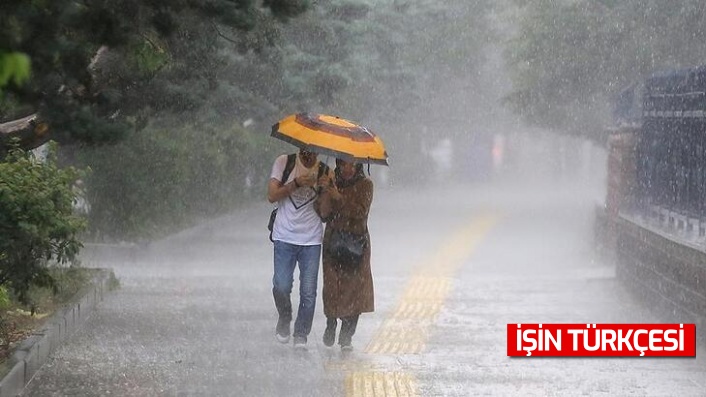
[(275, 336), (281, 343), (289, 342), (292, 321), (291, 293), (294, 268), (299, 265), (299, 309), (294, 322), (294, 347), (305, 349), (307, 336), (316, 308), (316, 289), (323, 224), (314, 210), (317, 184), (330, 184), (331, 171), (325, 165), (319, 176), (316, 153), (300, 150), (294, 167), (282, 180), (287, 166), (287, 155), (277, 157), (267, 186), (267, 199), (277, 203), (277, 217), (272, 229), (274, 243), (274, 275), (272, 295), (279, 314)]

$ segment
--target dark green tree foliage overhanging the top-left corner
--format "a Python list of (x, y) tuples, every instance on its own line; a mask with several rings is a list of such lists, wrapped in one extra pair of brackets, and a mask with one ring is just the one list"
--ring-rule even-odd
[[(32, 61), (24, 85), (6, 87), (0, 121), (39, 112), (58, 142), (117, 142), (153, 109), (198, 106), (213, 89), (221, 31), (302, 12), (305, 0), (8, 0), (0, 52)], [(199, 86), (200, 85), (200, 86)], [(169, 99), (169, 100), (164, 100)]]

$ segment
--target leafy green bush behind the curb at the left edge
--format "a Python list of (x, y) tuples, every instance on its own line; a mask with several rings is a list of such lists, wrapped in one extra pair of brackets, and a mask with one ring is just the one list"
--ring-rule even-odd
[(73, 211), (73, 186), (81, 172), (12, 149), (0, 163), (0, 286), (27, 302), (32, 286), (53, 287), (50, 263), (74, 261), (85, 221)]

